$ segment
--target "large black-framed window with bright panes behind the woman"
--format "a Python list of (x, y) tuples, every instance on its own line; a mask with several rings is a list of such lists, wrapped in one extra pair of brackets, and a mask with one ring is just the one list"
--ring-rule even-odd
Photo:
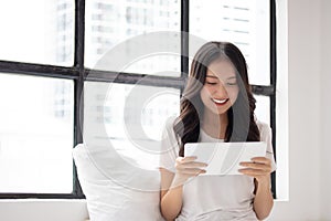
[[(85, 136), (111, 140), (143, 168), (154, 164), (153, 149), (135, 147), (153, 147), (179, 114), (190, 66), (183, 54), (194, 53), (181, 31), (244, 52), (257, 115), (275, 138), (275, 0), (14, 0), (0, 12), (9, 21), (0, 24), (0, 198), (84, 198), (71, 151)], [(164, 53), (107, 60), (116, 50), (115, 59), (130, 57), (145, 49), (130, 40), (156, 31), (169, 33), (158, 39)], [(99, 125), (103, 135), (90, 129)]]

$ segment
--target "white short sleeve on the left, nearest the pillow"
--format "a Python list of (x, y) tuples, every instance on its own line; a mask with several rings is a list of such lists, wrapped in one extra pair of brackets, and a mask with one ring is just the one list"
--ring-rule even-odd
[(173, 131), (173, 123), (175, 117), (170, 117), (166, 122), (162, 133), (160, 167), (171, 172), (175, 172), (175, 158), (179, 156), (179, 145)]

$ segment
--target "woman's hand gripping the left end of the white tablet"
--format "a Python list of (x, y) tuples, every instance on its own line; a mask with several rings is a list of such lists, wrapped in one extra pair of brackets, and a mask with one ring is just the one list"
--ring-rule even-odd
[(184, 185), (184, 182), (197, 175), (204, 173), (207, 164), (195, 161), (196, 157), (178, 157), (175, 159), (175, 175), (174, 181), (177, 186)]

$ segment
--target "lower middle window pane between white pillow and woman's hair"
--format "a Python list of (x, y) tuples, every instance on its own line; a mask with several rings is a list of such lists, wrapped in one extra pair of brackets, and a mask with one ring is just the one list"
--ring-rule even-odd
[(87, 144), (107, 140), (120, 156), (132, 159), (128, 164), (158, 167), (166, 120), (179, 114), (179, 90), (87, 82), (84, 94)]

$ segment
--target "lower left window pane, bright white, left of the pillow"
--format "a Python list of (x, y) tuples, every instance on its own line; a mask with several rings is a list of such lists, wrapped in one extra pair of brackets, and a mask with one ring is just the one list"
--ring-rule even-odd
[(0, 192), (71, 193), (74, 83), (0, 74)]

